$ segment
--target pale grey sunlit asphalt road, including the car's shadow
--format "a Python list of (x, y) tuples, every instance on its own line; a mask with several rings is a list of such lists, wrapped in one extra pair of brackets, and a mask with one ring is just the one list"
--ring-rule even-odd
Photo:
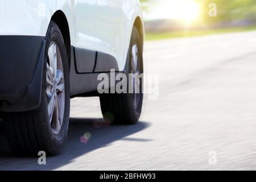
[(98, 98), (75, 98), (61, 155), (14, 158), (2, 136), (0, 169), (256, 169), (255, 31), (146, 42), (144, 60), (159, 97), (138, 125), (101, 125)]

